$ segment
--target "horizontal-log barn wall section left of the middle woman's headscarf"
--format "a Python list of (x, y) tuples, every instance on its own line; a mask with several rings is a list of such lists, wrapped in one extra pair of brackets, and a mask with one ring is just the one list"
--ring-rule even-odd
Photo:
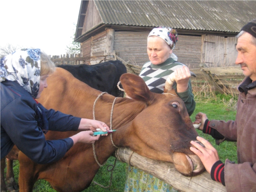
[(114, 50), (119, 57), (131, 64), (143, 66), (149, 61), (147, 54), (147, 37), (149, 32), (115, 32)]

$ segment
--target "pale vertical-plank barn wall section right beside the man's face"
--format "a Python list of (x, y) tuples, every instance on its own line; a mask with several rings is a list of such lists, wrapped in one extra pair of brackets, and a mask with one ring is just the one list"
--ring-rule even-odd
[(207, 67), (233, 66), (236, 57), (236, 37), (202, 35), (202, 60)]

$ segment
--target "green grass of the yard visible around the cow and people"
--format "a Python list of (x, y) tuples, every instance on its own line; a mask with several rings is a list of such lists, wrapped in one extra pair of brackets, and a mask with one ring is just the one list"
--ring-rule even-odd
[[(207, 93), (208, 94), (208, 93)], [(219, 120), (235, 120), (236, 118), (236, 96), (230, 95), (221, 95), (214, 92), (209, 94), (201, 93), (201, 96), (196, 96), (196, 108), (192, 116), (192, 122), (195, 120), (195, 115), (198, 112), (203, 112), (207, 114), (209, 120), (219, 119)], [(215, 144), (215, 140), (207, 135), (203, 134), (202, 131), (198, 131), (199, 136), (204, 137), (209, 140), (210, 143), (217, 149), (219, 158), (222, 162), (225, 162), (225, 159), (235, 161), (237, 163), (236, 156), (236, 142), (227, 142), (224, 141), (220, 145)], [(98, 173), (94, 177), (94, 180), (97, 183), (102, 184), (103, 186), (108, 186), (110, 181), (111, 173), (107, 171), (107, 166), (114, 163), (114, 157), (110, 157), (105, 166), (99, 169)], [(123, 192), (125, 187), (125, 166), (126, 163), (121, 163), (116, 161), (116, 167), (113, 170), (113, 179), (112, 185), (110, 188), (105, 189), (94, 183), (85, 189), (83, 192)], [(17, 182), (18, 172), (19, 172), (19, 163), (15, 161), (14, 165), (15, 180)], [(45, 180), (38, 180), (35, 183), (33, 192), (56, 192), (49, 183)]]

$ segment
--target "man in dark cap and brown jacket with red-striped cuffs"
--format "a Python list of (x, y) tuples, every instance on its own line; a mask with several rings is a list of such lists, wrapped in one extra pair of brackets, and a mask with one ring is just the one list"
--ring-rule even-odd
[(239, 84), (235, 121), (209, 121), (206, 114), (198, 113), (195, 123), (200, 130), (222, 142), (237, 142), (238, 164), (219, 160), (215, 148), (201, 137), (205, 148), (191, 141), (190, 150), (200, 157), (212, 180), (226, 186), (227, 192), (256, 192), (256, 19), (242, 27), (237, 35), (236, 64), (241, 66), (244, 80)]

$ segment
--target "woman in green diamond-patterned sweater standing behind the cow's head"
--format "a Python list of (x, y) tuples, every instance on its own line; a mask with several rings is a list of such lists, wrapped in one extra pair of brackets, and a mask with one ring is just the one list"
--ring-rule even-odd
[[(163, 93), (167, 77), (175, 73), (173, 89), (186, 105), (191, 115), (195, 110), (195, 100), (192, 93), (189, 68), (177, 61), (173, 49), (178, 40), (175, 29), (167, 27), (154, 28), (148, 35), (146, 62), (140, 77), (145, 81), (149, 90)], [(176, 192), (168, 183), (150, 175), (143, 170), (128, 166), (125, 182), (125, 192)]]

